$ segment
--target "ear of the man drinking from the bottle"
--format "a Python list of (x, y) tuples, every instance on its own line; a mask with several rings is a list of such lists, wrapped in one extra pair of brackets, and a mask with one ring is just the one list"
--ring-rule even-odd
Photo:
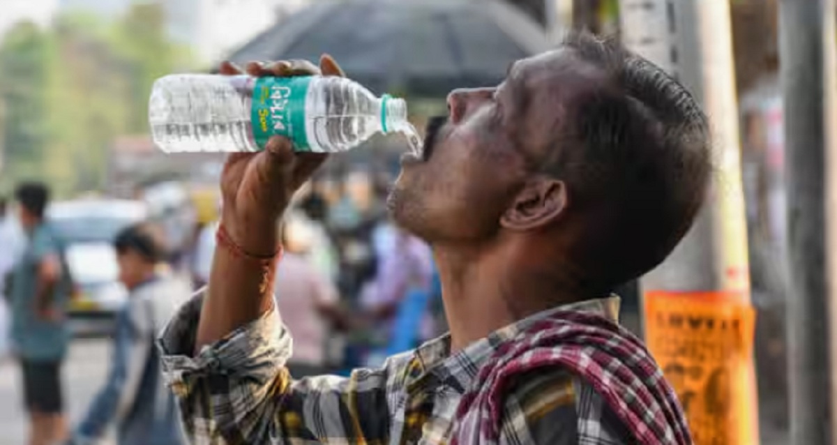
[(557, 179), (538, 177), (526, 183), (500, 224), (509, 230), (531, 230), (546, 226), (567, 210), (567, 185)]

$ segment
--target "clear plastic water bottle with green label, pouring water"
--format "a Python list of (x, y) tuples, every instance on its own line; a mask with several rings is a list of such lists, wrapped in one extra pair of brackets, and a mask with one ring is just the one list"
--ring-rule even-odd
[(148, 114), (154, 143), (168, 153), (260, 151), (275, 135), (295, 151), (347, 151), (391, 132), (413, 151), (420, 145), (404, 100), (338, 77), (172, 74), (154, 83)]

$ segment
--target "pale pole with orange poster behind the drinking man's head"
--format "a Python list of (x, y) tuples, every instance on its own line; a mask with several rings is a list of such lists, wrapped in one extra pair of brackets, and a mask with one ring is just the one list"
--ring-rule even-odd
[(619, 15), (624, 45), (679, 79), (701, 103), (716, 167), (691, 232), (641, 281), (646, 340), (680, 396), (697, 445), (755, 444), (754, 312), (730, 4), (621, 0)]

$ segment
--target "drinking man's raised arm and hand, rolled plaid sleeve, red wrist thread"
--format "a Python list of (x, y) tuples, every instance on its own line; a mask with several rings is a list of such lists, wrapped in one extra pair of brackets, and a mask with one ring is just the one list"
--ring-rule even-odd
[[(241, 74), (223, 64), (222, 74)], [(324, 56), (307, 62), (249, 64), (253, 76), (342, 75)], [(349, 378), (293, 381), (285, 368), (290, 335), (274, 308), (280, 217), (293, 193), (325, 161), (295, 153), (275, 137), (259, 153), (229, 156), (208, 288), (184, 305), (160, 339), (162, 366), (177, 395), (190, 442), (198, 444), (385, 442), (386, 368)], [(349, 395), (349, 396), (347, 396)], [(347, 400), (362, 404), (347, 407)]]

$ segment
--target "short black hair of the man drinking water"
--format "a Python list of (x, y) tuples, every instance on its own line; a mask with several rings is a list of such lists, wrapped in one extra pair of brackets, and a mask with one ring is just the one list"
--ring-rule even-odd
[(691, 94), (663, 69), (613, 40), (570, 34), (563, 47), (606, 81), (581, 93), (549, 172), (587, 211), (573, 258), (594, 285), (613, 287), (653, 269), (686, 234), (711, 173), (709, 125)]

